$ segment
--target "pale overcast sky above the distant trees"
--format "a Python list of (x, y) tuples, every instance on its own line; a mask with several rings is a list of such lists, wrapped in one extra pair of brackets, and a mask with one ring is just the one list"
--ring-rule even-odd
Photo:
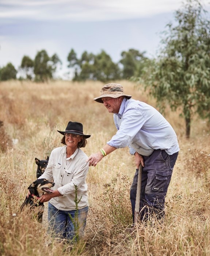
[[(202, 1), (208, 12), (209, 2)], [(130, 48), (152, 57), (181, 7), (179, 0), (0, 0), (0, 67), (18, 68), (24, 55), (34, 59), (43, 49), (60, 57), (62, 77), (71, 48), (78, 58), (103, 49), (118, 62)]]

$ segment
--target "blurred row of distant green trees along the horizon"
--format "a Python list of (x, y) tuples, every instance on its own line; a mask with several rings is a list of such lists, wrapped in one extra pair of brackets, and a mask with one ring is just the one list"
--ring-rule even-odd
[[(145, 52), (135, 49), (123, 51), (118, 63), (114, 63), (104, 50), (99, 54), (84, 51), (78, 58), (72, 48), (67, 56), (69, 70), (73, 72), (73, 81), (98, 80), (106, 82), (140, 76), (141, 70), (148, 60)], [(19, 72), (19, 79), (45, 82), (55, 78), (60, 65), (62, 62), (57, 54), (49, 56), (46, 50), (41, 50), (37, 52), (34, 60), (29, 56), (23, 56), (18, 70), (12, 63), (0, 68), (0, 81), (16, 79)]]

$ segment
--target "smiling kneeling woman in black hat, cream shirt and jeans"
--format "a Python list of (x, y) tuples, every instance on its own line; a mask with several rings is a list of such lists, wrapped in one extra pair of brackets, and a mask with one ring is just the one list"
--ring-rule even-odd
[(80, 147), (86, 146), (86, 139), (91, 135), (84, 135), (83, 125), (72, 121), (68, 122), (65, 131), (58, 132), (64, 135), (61, 143), (65, 146), (52, 150), (47, 168), (39, 178), (53, 180), (54, 192), (42, 195), (39, 201), (49, 201), (50, 230), (59, 238), (72, 240), (83, 235), (88, 214), (85, 178), (89, 165)]

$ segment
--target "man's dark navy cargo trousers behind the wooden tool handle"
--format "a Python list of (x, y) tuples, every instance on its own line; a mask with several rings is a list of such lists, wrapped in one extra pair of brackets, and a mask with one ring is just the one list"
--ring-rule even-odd
[[(148, 220), (149, 216), (155, 215), (161, 219), (165, 215), (165, 196), (171, 181), (173, 167), (178, 152), (168, 155), (165, 150), (154, 150), (153, 153), (144, 158), (142, 168), (140, 215), (141, 221)], [(135, 198), (137, 191), (138, 169), (135, 172), (133, 183), (130, 189), (130, 201), (132, 206), (133, 221), (135, 210)]]

